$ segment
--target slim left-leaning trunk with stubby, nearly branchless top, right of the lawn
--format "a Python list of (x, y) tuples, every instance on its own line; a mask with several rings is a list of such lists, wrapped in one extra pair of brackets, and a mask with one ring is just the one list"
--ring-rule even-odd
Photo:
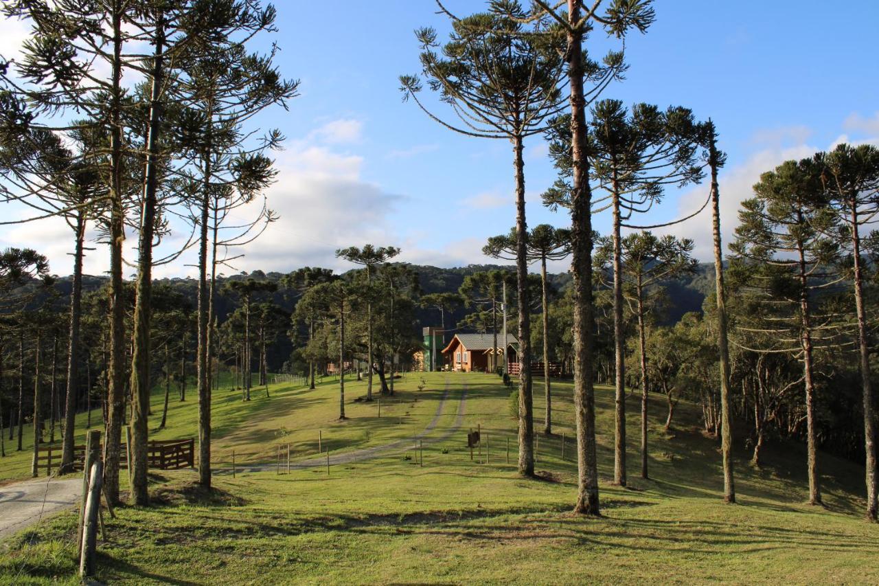
[(721, 451), (723, 452), (723, 501), (736, 502), (736, 484), (732, 472), (732, 406), (730, 405), (730, 346), (727, 338), (726, 289), (723, 286), (723, 244), (720, 234), (720, 187), (717, 168), (720, 153), (714, 124), (708, 143), (708, 165), (711, 167), (711, 219), (714, 231), (715, 291), (717, 298), (717, 351), (720, 355)]

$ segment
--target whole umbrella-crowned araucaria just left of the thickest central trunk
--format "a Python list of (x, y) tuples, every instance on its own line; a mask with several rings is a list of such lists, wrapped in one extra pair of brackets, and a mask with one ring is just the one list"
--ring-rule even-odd
[[(523, 24), (530, 14), (518, 2), (493, 2), (487, 12), (453, 19), (441, 46), (432, 28), (416, 33), (427, 84), (451, 106), (458, 125), (429, 112), (418, 98), (416, 76), (400, 77), (403, 99), (415, 99), (425, 113), (466, 136), (512, 143), (516, 201), (516, 270), (519, 296), (519, 473), (534, 475), (534, 414), (531, 395), (531, 322), (527, 291), (525, 160), (528, 136), (540, 134), (562, 111), (564, 34), (543, 18)], [(437, 49), (439, 48), (439, 52)]]

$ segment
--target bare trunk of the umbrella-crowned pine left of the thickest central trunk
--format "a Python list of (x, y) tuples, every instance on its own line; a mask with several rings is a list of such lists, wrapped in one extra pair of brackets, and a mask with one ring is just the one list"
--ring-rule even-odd
[[(531, 395), (531, 311), (528, 304), (525, 161), (522, 137), (513, 139), (516, 169), (516, 289), (519, 294), (519, 474), (534, 476), (534, 400)], [(506, 343), (506, 341), (505, 341)]]

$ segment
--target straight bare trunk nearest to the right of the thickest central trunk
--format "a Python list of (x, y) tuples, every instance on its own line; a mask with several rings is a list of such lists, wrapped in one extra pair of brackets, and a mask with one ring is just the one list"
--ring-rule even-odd
[(620, 187), (614, 169), (614, 484), (626, 486), (626, 334), (622, 323)]

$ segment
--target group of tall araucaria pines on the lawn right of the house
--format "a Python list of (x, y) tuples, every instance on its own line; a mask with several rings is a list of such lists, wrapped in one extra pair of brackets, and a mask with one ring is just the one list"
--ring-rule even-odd
[[(708, 369), (719, 392), (708, 392), (703, 402), (708, 427), (722, 440), (724, 500), (735, 502), (732, 462), (734, 392), (732, 355), (740, 359), (742, 348), (751, 353), (787, 353), (803, 363), (807, 440), (810, 446), (810, 502), (820, 502), (814, 460), (814, 369), (810, 364), (816, 337), (820, 348), (860, 348), (864, 446), (867, 464), (867, 515), (876, 518), (875, 415), (870, 383), (868, 317), (865, 309), (864, 260), (859, 226), (865, 228), (875, 216), (875, 174), (869, 147), (839, 147), (817, 155), (804, 173), (809, 179), (792, 179), (791, 172), (776, 170), (783, 179), (764, 176), (754, 201), (745, 202), (743, 225), (734, 250), (737, 253), (736, 286), (747, 295), (736, 296), (735, 333), (730, 333), (727, 286), (724, 283), (718, 170), (725, 155), (717, 149), (718, 133), (710, 120), (699, 121), (685, 106), (665, 109), (649, 103), (626, 106), (605, 96), (627, 70), (622, 50), (611, 51), (600, 61), (588, 51), (590, 34), (604, 31), (624, 40), (628, 33), (646, 33), (655, 13), (650, 1), (611, 0), (585, 4), (581, 0), (548, 3), (534, 0), (527, 8), (516, 0), (494, 0), (486, 11), (460, 17), (438, 3), (449, 18), (452, 32), (440, 41), (433, 28), (416, 32), (421, 48), (421, 75), (400, 77), (403, 100), (412, 99), (432, 120), (444, 128), (475, 138), (502, 139), (512, 146), (516, 225), (509, 236), (491, 238), (485, 253), (516, 262), (516, 295), (519, 298), (519, 472), (534, 474), (534, 414), (530, 361), (532, 349), (531, 304), (528, 264), (548, 255), (572, 256), (570, 289), (570, 362), (575, 378), (578, 436), (579, 494), (575, 509), (599, 513), (596, 461), (594, 381), (601, 352), (611, 342), (615, 387), (614, 483), (627, 483), (626, 403), (627, 343), (636, 347), (641, 396), (641, 474), (648, 476), (648, 424), (652, 369), (648, 352), (648, 319), (657, 304), (659, 285), (676, 276), (692, 273), (693, 243), (671, 236), (659, 238), (650, 230), (667, 228), (708, 208), (712, 215), (716, 307), (709, 312), (710, 337), (716, 366)], [(421, 97), (427, 88), (447, 106), (448, 115), (435, 110)], [(529, 136), (544, 135), (550, 143), (560, 177), (543, 194), (553, 209), (570, 211), (570, 231), (554, 233), (549, 226), (527, 230), (525, 207), (525, 160), (523, 143)], [(797, 165), (797, 164), (793, 164)], [(669, 223), (647, 225), (643, 216), (656, 207), (668, 187), (700, 184), (708, 179), (705, 204), (693, 215)], [(790, 186), (797, 181), (814, 185)], [(782, 184), (782, 185), (779, 185)], [(779, 194), (778, 192), (782, 192)], [(774, 198), (774, 200), (773, 200)], [(772, 200), (772, 201), (769, 201)], [(823, 203), (828, 201), (830, 203)], [(808, 208), (808, 209), (807, 209)], [(611, 214), (607, 237), (592, 231), (592, 215)], [(808, 227), (807, 227), (808, 226)], [(631, 231), (624, 236), (623, 230)], [(837, 250), (838, 249), (838, 250)], [(846, 268), (843, 257), (851, 268)], [(836, 251), (836, 252), (834, 252)], [(505, 256), (506, 255), (506, 256)], [(798, 256), (797, 256), (798, 255)], [(793, 258), (788, 258), (792, 256)], [(739, 262), (741, 257), (741, 262)], [(745, 259), (748, 259), (745, 261)], [(832, 267), (832, 268), (831, 268)], [(740, 269), (740, 270), (739, 270)], [(747, 277), (740, 273), (751, 271)], [(843, 275), (845, 273), (846, 275)], [(545, 270), (542, 299), (544, 362), (548, 362), (548, 306)], [(741, 279), (741, 281), (739, 281)], [(828, 301), (816, 315), (816, 297), (845, 281), (852, 296), (846, 302)], [(798, 285), (796, 283), (799, 283)], [(781, 289), (787, 287), (786, 291)], [(752, 290), (756, 289), (756, 290)], [(483, 289), (492, 297), (495, 292)], [(823, 298), (823, 297), (822, 297)], [(758, 325), (747, 326), (739, 304), (749, 300), (745, 311), (759, 315)], [(854, 302), (854, 309), (852, 308)], [(822, 302), (823, 303), (823, 302)], [(791, 313), (790, 304), (798, 307)], [(492, 307), (494, 303), (492, 302)], [(602, 327), (601, 313), (611, 319)], [(636, 335), (627, 332), (630, 314)], [(854, 317), (853, 317), (854, 316)], [(856, 326), (847, 336), (832, 324), (839, 319)], [(484, 321), (483, 321), (484, 323)], [(851, 329), (851, 327), (849, 328)], [(746, 347), (744, 332), (764, 335), (771, 348)], [(651, 337), (656, 337), (652, 333)], [(634, 340), (633, 340), (634, 338)], [(730, 349), (730, 342), (735, 349)], [(655, 342), (654, 342), (655, 343)], [(774, 344), (774, 346), (773, 346)], [(779, 348), (778, 345), (784, 346)], [(766, 364), (764, 363), (764, 366)], [(682, 370), (695, 370), (679, 363)], [(608, 369), (610, 370), (610, 369)], [(611, 373), (607, 373), (608, 375)], [(671, 421), (677, 386), (669, 373), (657, 375), (669, 398)], [(783, 377), (782, 377), (783, 378)], [(743, 379), (744, 380), (744, 379)], [(747, 383), (743, 382), (743, 397)], [(550, 405), (549, 382), (545, 383)], [(753, 393), (751, 393), (753, 395)], [(742, 401), (743, 406), (746, 401)], [(752, 400), (758, 420), (759, 399)], [(765, 405), (762, 408), (766, 408)], [(744, 407), (743, 407), (744, 409)], [(549, 420), (545, 429), (551, 430)], [(762, 437), (758, 434), (760, 443)]]

